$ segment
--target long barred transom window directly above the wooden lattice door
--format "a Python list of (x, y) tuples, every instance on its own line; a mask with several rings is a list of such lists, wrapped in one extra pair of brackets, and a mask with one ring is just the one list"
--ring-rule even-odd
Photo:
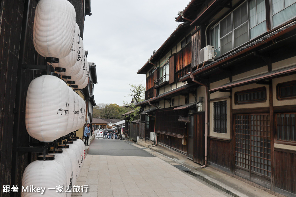
[(245, 104), (266, 101), (266, 87), (248, 89), (234, 93), (235, 104)]

